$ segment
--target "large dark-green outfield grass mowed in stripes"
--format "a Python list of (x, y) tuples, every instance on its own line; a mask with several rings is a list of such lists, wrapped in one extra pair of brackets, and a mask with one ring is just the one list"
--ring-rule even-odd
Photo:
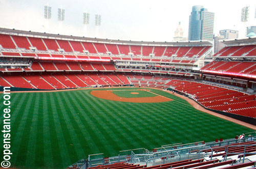
[[(91, 90), (11, 94), (12, 166), (65, 168), (89, 154), (116, 156), (121, 150), (211, 142), (253, 131), (201, 112), (164, 91), (150, 90), (174, 100), (117, 102), (96, 98)], [(4, 105), (0, 107), (3, 110)], [(2, 142), (3, 134), (0, 138)]]

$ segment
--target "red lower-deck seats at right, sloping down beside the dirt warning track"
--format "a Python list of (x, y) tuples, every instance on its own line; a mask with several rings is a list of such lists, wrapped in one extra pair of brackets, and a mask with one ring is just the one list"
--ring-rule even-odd
[(256, 118), (256, 96), (193, 81), (167, 82), (175, 90), (190, 94), (203, 106), (236, 115)]

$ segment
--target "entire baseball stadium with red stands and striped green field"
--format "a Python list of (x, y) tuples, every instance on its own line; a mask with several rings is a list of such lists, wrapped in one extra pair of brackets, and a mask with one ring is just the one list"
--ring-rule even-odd
[(254, 168), (256, 37), (223, 43), (211, 55), (209, 41), (1, 28), (1, 160), (11, 168)]

